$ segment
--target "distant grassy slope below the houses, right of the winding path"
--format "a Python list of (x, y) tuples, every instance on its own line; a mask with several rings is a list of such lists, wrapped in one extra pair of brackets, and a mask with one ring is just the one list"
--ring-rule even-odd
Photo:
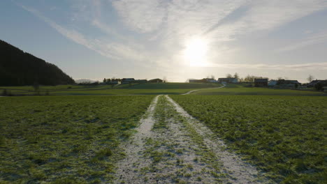
[(205, 89), (192, 93), (194, 95), (321, 95), (327, 93), (318, 91), (292, 90), (292, 89), (268, 89), (245, 87), (244, 85), (228, 84), (222, 89)]

